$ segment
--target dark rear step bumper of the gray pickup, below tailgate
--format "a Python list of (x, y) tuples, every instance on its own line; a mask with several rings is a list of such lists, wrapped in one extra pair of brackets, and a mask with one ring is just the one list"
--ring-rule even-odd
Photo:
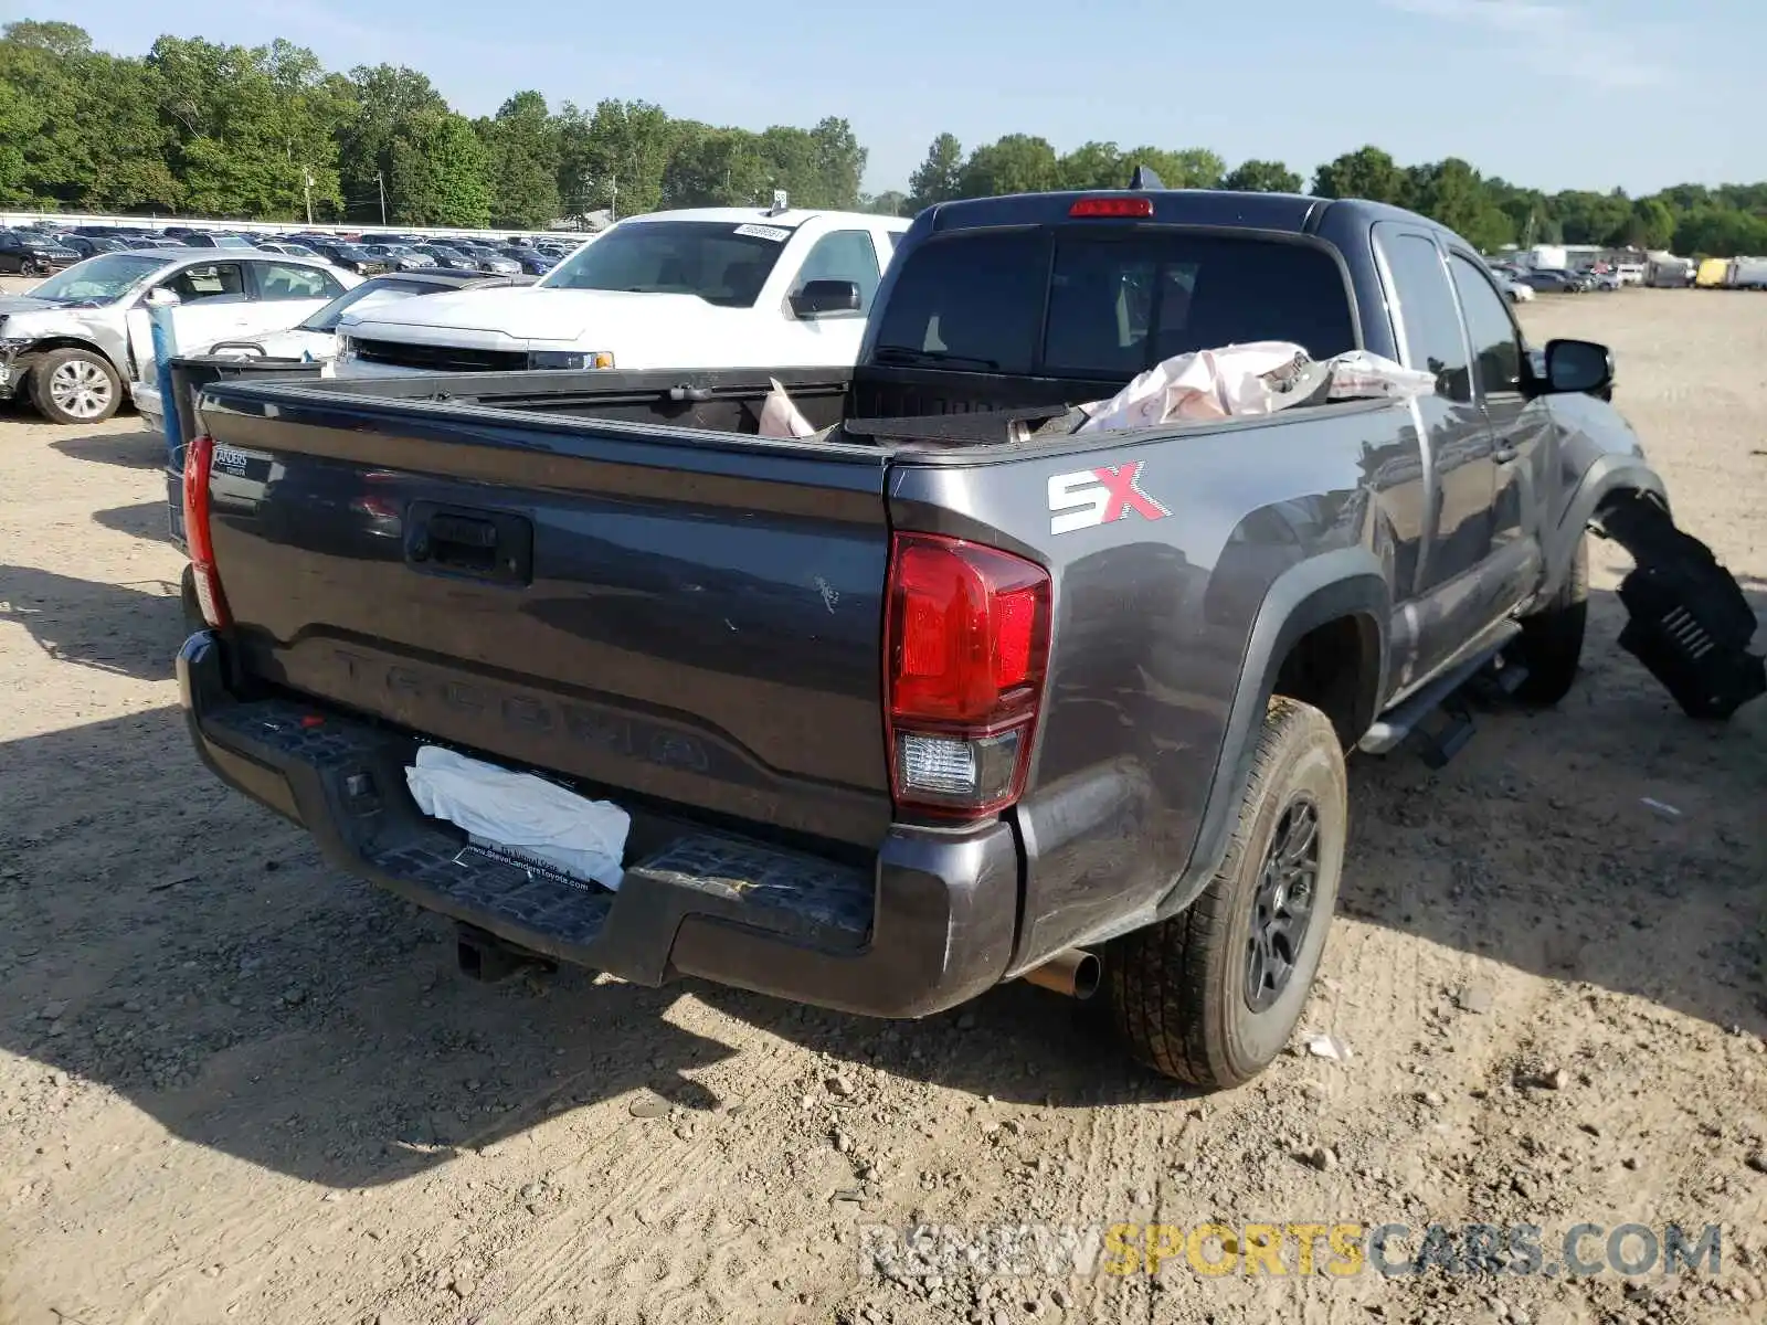
[(292, 700), (242, 701), (221, 640), (178, 654), (191, 738), (224, 783), (325, 859), (426, 910), (634, 984), (694, 975), (845, 1012), (915, 1018), (997, 984), (1018, 919), (1005, 823), (892, 827), (875, 871), (698, 829), (645, 852), (615, 894), (463, 852), (405, 786), (419, 738)]

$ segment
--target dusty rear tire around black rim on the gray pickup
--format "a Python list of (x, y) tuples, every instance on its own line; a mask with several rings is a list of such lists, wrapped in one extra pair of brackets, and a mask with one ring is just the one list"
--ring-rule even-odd
[[(1318, 813), (1311, 920), (1281, 995), (1255, 1012), (1248, 949), (1258, 882), (1283, 816), (1302, 800)], [(1223, 1090), (1249, 1081), (1283, 1051), (1325, 952), (1348, 822), (1343, 746), (1331, 719), (1272, 698), (1219, 873), (1186, 910), (1104, 947), (1110, 1016), (1138, 1062)]]

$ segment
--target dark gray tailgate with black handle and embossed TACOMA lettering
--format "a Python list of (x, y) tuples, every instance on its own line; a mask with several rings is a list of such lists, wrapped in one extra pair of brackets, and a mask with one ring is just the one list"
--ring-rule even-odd
[(263, 387), (203, 419), (253, 677), (615, 800), (884, 836), (882, 452)]

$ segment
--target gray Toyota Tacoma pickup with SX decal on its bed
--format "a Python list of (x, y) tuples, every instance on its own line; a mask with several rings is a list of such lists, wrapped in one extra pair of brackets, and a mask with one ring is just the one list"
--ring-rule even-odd
[[(719, 258), (684, 240), (687, 265)], [(737, 254), (744, 261), (756, 254)], [(452, 917), (463, 966), (578, 963), (917, 1018), (1097, 989), (1225, 1086), (1290, 1039), (1339, 887), (1345, 756), (1461, 682), (1551, 703), (1587, 534), (1682, 705), (1762, 689), (1599, 344), (1523, 343), (1477, 253), (1359, 201), (1126, 189), (945, 203), (852, 373), (216, 383), (186, 507), (191, 733), (325, 857)], [(1187, 350), (1279, 339), (1417, 401), (1074, 431)], [(1739, 617), (1740, 604), (1740, 617)], [(419, 813), (422, 744), (631, 814), (618, 890)]]

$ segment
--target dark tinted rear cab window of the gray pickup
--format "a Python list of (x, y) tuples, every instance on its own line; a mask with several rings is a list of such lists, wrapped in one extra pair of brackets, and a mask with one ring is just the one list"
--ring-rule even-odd
[(1336, 258), (1309, 242), (1170, 228), (1057, 226), (935, 237), (882, 311), (882, 364), (1131, 378), (1163, 359), (1293, 341), (1357, 344)]

